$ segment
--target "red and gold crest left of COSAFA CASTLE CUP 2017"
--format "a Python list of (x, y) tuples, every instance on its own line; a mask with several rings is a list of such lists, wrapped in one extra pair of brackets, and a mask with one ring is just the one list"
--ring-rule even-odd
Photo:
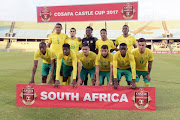
[(44, 22), (48, 22), (52, 16), (51, 11), (44, 7), (40, 12), (41, 20)]

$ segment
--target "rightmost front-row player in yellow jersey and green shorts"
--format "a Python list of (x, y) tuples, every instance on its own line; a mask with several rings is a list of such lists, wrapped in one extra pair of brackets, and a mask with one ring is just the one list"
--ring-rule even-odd
[(140, 38), (138, 40), (138, 48), (132, 51), (136, 61), (136, 86), (138, 86), (139, 78), (143, 76), (145, 87), (150, 87), (150, 72), (154, 59), (153, 52), (146, 48), (146, 40)]

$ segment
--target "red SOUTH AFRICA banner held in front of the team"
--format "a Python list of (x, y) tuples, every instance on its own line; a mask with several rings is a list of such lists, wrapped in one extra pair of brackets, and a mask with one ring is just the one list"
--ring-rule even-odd
[(155, 87), (17, 84), (16, 106), (155, 111)]

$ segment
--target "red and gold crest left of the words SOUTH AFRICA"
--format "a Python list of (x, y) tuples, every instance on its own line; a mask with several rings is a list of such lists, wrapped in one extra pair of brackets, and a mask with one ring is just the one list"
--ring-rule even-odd
[(22, 102), (25, 105), (32, 105), (35, 102), (35, 98), (36, 98), (36, 93), (34, 91), (34, 88), (31, 88), (30, 86), (23, 88), (21, 92), (21, 97), (22, 97)]

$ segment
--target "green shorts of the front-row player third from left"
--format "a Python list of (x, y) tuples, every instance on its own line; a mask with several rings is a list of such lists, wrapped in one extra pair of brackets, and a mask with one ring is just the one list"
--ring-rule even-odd
[(95, 73), (95, 67), (92, 68), (92, 69), (86, 69), (86, 68), (82, 67), (80, 77), (81, 77), (81, 79), (85, 80), (86, 76), (88, 74), (90, 74), (90, 77), (91, 77), (91, 80), (92, 80), (93, 77), (94, 77), (94, 73)]

